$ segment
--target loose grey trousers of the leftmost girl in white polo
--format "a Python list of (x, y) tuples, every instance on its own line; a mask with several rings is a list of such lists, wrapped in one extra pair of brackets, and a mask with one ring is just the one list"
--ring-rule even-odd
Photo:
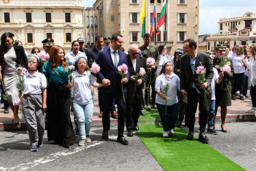
[(44, 111), (42, 94), (25, 94), (22, 98), (22, 112), (29, 131), (31, 146), (37, 146), (44, 136)]

